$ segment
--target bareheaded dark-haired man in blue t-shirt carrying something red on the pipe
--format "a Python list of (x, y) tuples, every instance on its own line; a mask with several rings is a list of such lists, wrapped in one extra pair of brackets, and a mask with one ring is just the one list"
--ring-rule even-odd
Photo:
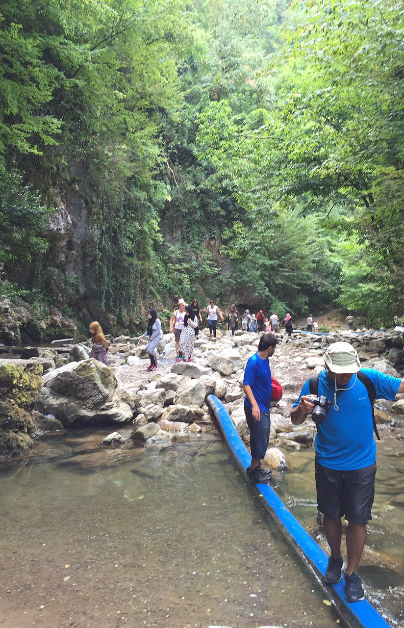
[(273, 333), (264, 333), (258, 344), (258, 351), (245, 365), (243, 389), (245, 392), (244, 412), (250, 428), (251, 465), (247, 475), (252, 482), (269, 482), (270, 471), (260, 467), (269, 441), (270, 403), (272, 392), (269, 357), (274, 355), (278, 338)]

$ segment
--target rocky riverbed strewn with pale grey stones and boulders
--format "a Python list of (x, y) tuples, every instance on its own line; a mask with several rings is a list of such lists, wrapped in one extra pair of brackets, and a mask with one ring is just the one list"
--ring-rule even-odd
[[(288, 452), (309, 447), (314, 430), (312, 421), (292, 426), (290, 407), (302, 382), (323, 369), (322, 355), (327, 346), (336, 340), (349, 340), (358, 349), (363, 366), (400, 376), (404, 343), (400, 332), (296, 333), (291, 339), (279, 338), (270, 362), (284, 396), (273, 404), (270, 447), (264, 464), (286, 470)], [(72, 344), (65, 340), (55, 340), (48, 347), (25, 347), (21, 359), (3, 361), (0, 455), (21, 455), (33, 446), (35, 435), (72, 425), (102, 423), (107, 431), (108, 426), (114, 426), (112, 433), (118, 435), (104, 440), (103, 447), (197, 438), (203, 431), (214, 429), (206, 404), (209, 394), (223, 401), (248, 443), (242, 379), (248, 358), (257, 350), (257, 334), (238, 331), (231, 337), (229, 332), (218, 332), (217, 338), (210, 338), (208, 330), (203, 330), (189, 363), (174, 362), (174, 336), (165, 334), (156, 350), (159, 367), (151, 373), (146, 371), (143, 340), (125, 336), (109, 340), (109, 367), (89, 359), (89, 342)], [(398, 396), (393, 404), (376, 402), (376, 421), (393, 438), (402, 438), (404, 396)], [(126, 424), (133, 425), (129, 438), (119, 436), (119, 426)]]

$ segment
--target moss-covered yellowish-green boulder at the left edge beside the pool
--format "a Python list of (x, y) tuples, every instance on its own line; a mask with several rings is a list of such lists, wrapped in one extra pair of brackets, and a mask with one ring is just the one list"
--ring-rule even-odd
[(0, 362), (0, 459), (33, 446), (32, 411), (41, 384), (42, 366), (35, 360)]

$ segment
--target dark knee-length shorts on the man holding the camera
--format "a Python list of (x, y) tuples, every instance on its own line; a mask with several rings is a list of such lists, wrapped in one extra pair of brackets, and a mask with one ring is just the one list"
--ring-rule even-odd
[(317, 508), (327, 519), (364, 526), (372, 518), (376, 463), (354, 471), (322, 467), (316, 460)]

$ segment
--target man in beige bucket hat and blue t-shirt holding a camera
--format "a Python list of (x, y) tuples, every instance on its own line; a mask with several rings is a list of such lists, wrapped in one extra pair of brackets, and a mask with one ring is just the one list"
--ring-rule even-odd
[[(366, 524), (371, 519), (375, 497), (376, 443), (373, 438), (372, 406), (366, 386), (357, 377), (361, 365), (356, 350), (348, 342), (334, 342), (324, 355), (326, 371), (319, 375), (318, 396), (331, 403), (324, 421), (317, 423), (316, 489), (317, 507), (324, 514), (324, 533), (331, 549), (326, 582), (341, 580), (343, 526), (348, 521), (345, 595), (348, 602), (363, 600), (361, 578), (356, 570), (366, 541)], [(371, 381), (376, 399), (393, 401), (404, 393), (404, 379), (374, 369), (362, 369)], [(290, 418), (294, 425), (304, 423), (314, 404), (309, 380), (294, 403)]]

